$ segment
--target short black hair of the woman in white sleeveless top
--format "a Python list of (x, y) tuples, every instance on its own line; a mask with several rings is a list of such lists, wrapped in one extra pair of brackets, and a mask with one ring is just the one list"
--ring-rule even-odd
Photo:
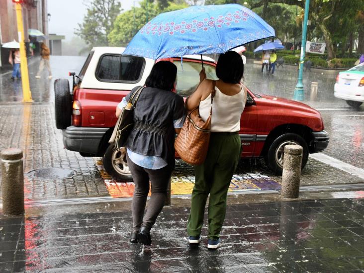
[(239, 53), (228, 51), (220, 54), (216, 65), (216, 76), (224, 83), (239, 84), (244, 74), (243, 59)]

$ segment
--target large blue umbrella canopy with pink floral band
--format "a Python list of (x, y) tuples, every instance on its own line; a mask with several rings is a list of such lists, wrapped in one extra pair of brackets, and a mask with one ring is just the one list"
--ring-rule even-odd
[(139, 30), (123, 54), (154, 60), (216, 54), (274, 36), (273, 27), (245, 6), (195, 5), (159, 14)]

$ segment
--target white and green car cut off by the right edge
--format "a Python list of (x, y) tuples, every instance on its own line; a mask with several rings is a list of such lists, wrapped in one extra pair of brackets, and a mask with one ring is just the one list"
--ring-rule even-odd
[(336, 77), (334, 96), (345, 99), (352, 107), (359, 107), (364, 102), (364, 63), (347, 71), (340, 72)]

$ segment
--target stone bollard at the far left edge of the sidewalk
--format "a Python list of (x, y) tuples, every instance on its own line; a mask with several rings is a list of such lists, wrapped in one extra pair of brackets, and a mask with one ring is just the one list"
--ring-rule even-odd
[(1, 151), (2, 213), (24, 213), (23, 152), (19, 149)]

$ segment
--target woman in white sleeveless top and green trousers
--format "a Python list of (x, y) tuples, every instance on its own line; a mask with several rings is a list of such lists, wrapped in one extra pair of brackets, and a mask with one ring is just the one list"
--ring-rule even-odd
[[(243, 113), (247, 91), (240, 81), (244, 74), (241, 56), (228, 51), (220, 54), (216, 65), (218, 81), (203, 80), (197, 90), (188, 98), (188, 111), (199, 106), (202, 119), (210, 115), (211, 136), (206, 160), (194, 167), (195, 184), (191, 196), (191, 212), (187, 222), (189, 243), (200, 240), (203, 216), (208, 195), (208, 244), (210, 249), (220, 245), (220, 231), (225, 219), (227, 192), (242, 152), (239, 137), (240, 117)], [(213, 94), (214, 93), (214, 94)]]

